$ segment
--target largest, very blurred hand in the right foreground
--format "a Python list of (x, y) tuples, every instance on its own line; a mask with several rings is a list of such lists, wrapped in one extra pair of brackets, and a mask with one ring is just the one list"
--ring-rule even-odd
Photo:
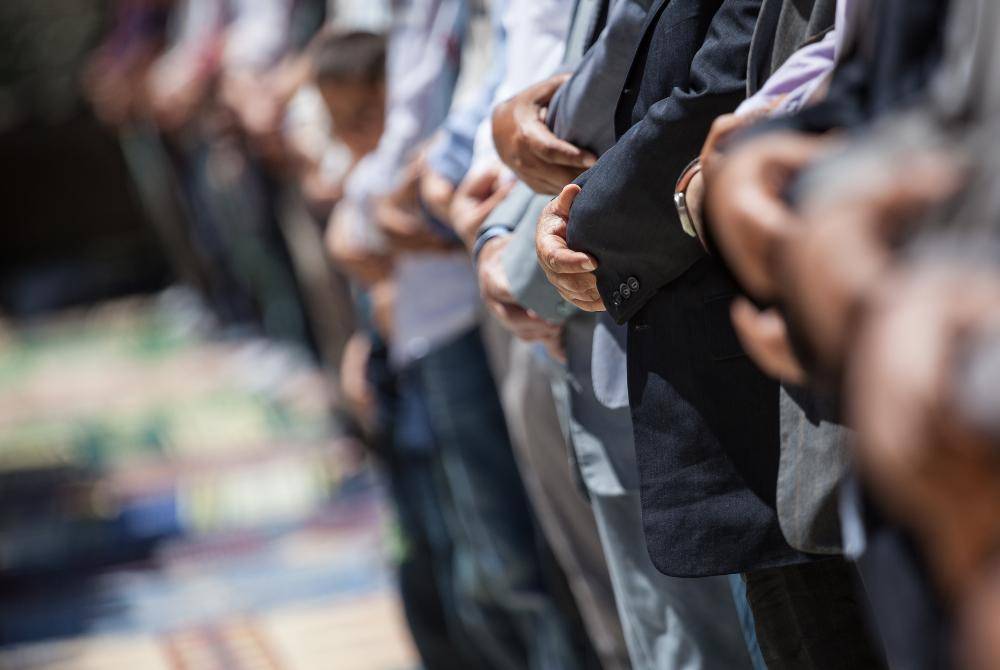
[(883, 278), (847, 375), (859, 463), (887, 508), (918, 531), (954, 594), (1000, 542), (997, 445), (958, 401), (962, 353), (995, 336), (998, 313), (992, 271), (941, 265)]

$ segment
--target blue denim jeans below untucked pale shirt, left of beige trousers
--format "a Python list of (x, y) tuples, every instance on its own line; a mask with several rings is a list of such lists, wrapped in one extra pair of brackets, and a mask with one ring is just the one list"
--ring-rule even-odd
[(496, 668), (582, 667), (545, 586), (534, 519), (479, 330), (432, 351), (414, 370), (452, 502), (446, 521), (455, 579), (476, 603), (460, 611), (463, 621)]

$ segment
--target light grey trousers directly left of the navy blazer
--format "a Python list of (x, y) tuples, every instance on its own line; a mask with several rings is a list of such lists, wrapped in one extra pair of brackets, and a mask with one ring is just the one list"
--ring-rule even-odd
[[(624, 384), (621, 388), (617, 384), (623, 380), (616, 379), (625, 374), (624, 351), (616, 346), (621, 345), (620, 335), (613, 328), (595, 325), (592, 318), (568, 322), (567, 374), (553, 385), (553, 392), (568, 416), (573, 449), (601, 533), (632, 667), (750, 668), (729, 579), (667, 577), (649, 558), (632, 420)], [(594, 356), (595, 347), (600, 350), (599, 356)], [(603, 367), (595, 367), (595, 359)], [(615, 365), (619, 360), (620, 367)]]

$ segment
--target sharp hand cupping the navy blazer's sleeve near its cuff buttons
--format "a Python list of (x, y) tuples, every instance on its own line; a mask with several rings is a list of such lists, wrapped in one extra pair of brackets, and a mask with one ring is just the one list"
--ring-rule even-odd
[(535, 252), (549, 283), (559, 295), (587, 312), (605, 311), (597, 291), (597, 261), (588, 254), (573, 251), (566, 244), (569, 210), (580, 187), (570, 184), (545, 206), (535, 233)]

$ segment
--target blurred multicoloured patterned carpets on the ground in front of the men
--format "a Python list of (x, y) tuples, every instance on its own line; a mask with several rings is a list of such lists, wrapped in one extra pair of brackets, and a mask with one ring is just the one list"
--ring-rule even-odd
[(304, 360), (177, 292), (0, 322), (0, 668), (415, 667)]

